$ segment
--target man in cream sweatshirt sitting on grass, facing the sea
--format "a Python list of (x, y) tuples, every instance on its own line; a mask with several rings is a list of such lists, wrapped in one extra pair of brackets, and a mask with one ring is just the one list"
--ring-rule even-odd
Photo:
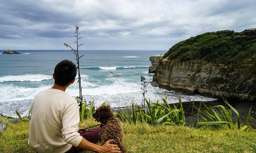
[(113, 140), (108, 140), (103, 146), (94, 144), (99, 140), (99, 127), (78, 133), (83, 128), (78, 127), (77, 100), (65, 93), (66, 88), (74, 83), (76, 74), (77, 67), (73, 62), (59, 62), (52, 74), (55, 80), (52, 88), (35, 95), (30, 110), (28, 144), (39, 153), (79, 152), (82, 149), (121, 153), (118, 145), (109, 144)]

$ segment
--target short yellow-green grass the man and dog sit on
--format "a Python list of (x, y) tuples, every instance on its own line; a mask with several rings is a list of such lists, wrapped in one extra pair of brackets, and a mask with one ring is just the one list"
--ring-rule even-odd
[[(0, 133), (0, 153), (35, 152), (28, 146), (29, 122), (7, 124), (6, 131)], [(84, 120), (80, 126), (98, 124), (94, 119)], [(128, 151), (138, 152), (254, 152), (256, 150), (256, 129), (245, 131), (223, 127), (193, 129), (187, 126), (161, 126), (149, 124), (122, 123), (124, 143)], [(84, 151), (85, 153), (91, 153)]]

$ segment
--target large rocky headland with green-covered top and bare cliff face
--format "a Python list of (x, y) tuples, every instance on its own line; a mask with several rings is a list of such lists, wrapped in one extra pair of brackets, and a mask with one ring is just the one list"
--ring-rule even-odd
[[(153, 56), (150, 61), (157, 60)], [(175, 44), (159, 60), (152, 85), (256, 101), (256, 29), (207, 32)]]

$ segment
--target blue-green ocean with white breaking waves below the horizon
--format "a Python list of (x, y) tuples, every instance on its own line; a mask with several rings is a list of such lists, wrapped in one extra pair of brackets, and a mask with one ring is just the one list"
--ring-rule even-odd
[[(3, 53), (4, 50), (0, 50)], [(54, 84), (52, 73), (55, 65), (68, 59), (76, 63), (75, 54), (68, 51), (18, 51), (23, 54), (0, 54), (0, 113), (16, 117), (17, 110), (26, 115), (36, 93), (51, 88)], [(94, 99), (95, 106), (110, 103), (112, 109), (140, 105), (143, 91), (140, 76), (151, 82), (153, 74), (148, 73), (150, 56), (165, 54), (167, 51), (79, 51), (82, 95), (87, 102)], [(78, 77), (78, 75), (77, 75)], [(79, 96), (75, 82), (66, 93)], [(177, 103), (178, 96), (186, 101), (214, 101), (215, 98), (200, 95), (176, 93), (153, 87), (149, 83), (145, 97), (156, 102), (168, 93), (167, 102)]]

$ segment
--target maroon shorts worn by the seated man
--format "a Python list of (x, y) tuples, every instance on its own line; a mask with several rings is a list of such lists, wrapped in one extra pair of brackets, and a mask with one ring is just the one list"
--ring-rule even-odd
[[(87, 141), (92, 142), (92, 143), (96, 143), (97, 141), (99, 141), (99, 130), (100, 129), (101, 129), (100, 127), (92, 128), (91, 130), (80, 133), (80, 135), (83, 138), (85, 138)], [(84, 150), (84, 149), (72, 146), (65, 153), (77, 153), (77, 152), (80, 152), (82, 150)]]

